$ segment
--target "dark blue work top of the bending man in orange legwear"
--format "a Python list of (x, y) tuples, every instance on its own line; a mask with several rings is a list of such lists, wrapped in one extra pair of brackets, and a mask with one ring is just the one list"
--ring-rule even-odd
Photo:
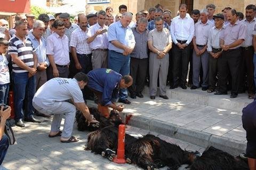
[(111, 69), (99, 68), (88, 72), (87, 76), (89, 78), (87, 86), (102, 93), (100, 102), (103, 106), (111, 104), (111, 101), (117, 102), (121, 74)]

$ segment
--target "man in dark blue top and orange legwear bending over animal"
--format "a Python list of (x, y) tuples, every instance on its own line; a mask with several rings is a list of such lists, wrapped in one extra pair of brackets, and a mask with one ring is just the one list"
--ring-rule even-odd
[(89, 78), (87, 86), (97, 96), (98, 110), (102, 116), (109, 118), (108, 107), (117, 111), (123, 111), (124, 107), (116, 106), (116, 101), (118, 99), (119, 89), (132, 85), (131, 76), (122, 76), (106, 68), (94, 69), (87, 76)]

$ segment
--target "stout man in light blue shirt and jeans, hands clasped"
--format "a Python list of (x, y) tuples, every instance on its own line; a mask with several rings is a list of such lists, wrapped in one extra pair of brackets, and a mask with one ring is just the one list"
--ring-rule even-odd
[[(135, 46), (135, 39), (129, 26), (132, 14), (125, 12), (121, 20), (112, 23), (108, 28), (108, 68), (121, 75), (130, 74), (130, 54)], [(130, 104), (127, 100), (127, 89), (120, 90), (119, 102)]]

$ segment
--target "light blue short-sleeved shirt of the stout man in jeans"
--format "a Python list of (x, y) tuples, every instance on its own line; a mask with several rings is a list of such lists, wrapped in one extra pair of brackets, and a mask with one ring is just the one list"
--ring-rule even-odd
[[(135, 39), (131, 28), (129, 26), (124, 28), (120, 21), (114, 22), (108, 27), (108, 41), (111, 42), (114, 40), (117, 40), (118, 42), (129, 47), (132, 47), (133, 43), (135, 44)], [(112, 43), (109, 43), (108, 50), (113, 50), (118, 53), (124, 52), (122, 48), (117, 48)]]

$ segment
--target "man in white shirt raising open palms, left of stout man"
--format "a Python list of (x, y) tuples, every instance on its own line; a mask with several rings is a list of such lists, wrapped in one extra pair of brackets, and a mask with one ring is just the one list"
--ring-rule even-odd
[(88, 31), (87, 43), (92, 48), (92, 69), (108, 66), (108, 26), (105, 25), (107, 14), (100, 10), (97, 13), (98, 22)]

